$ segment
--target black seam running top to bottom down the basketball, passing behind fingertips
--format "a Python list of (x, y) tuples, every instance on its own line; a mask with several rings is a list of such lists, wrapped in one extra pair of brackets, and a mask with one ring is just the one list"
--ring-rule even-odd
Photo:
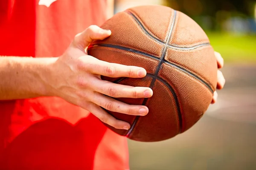
[[(153, 79), (151, 80), (151, 83), (150, 83), (150, 86), (149, 86), (149, 88), (151, 88), (151, 89), (152, 89), (153, 86), (154, 86), (154, 83), (155, 83), (156, 78), (157, 78), (157, 74), (158, 74), (159, 71), (160, 71), (161, 65), (162, 65), (162, 63), (163, 63), (163, 59), (164, 59), (164, 57), (165, 57), (165, 55), (166, 55), (168, 43), (169, 43), (169, 41), (170, 41), (170, 39), (171, 39), (171, 37), (172, 37), (172, 30), (173, 30), (173, 28), (174, 28), (174, 24), (175, 24), (175, 20), (176, 20), (176, 13), (177, 13), (177, 12), (174, 11), (174, 16), (173, 16), (173, 19), (172, 19), (172, 26), (171, 26), (171, 28), (170, 28), (170, 30), (169, 30), (168, 37), (167, 37), (167, 40), (166, 40), (166, 43), (165, 43), (165, 47), (164, 47), (164, 49), (163, 49), (163, 52), (162, 52), (160, 61), (159, 61), (158, 65), (157, 65), (157, 69), (156, 69), (156, 71), (155, 71), (155, 73), (154, 73), (154, 77), (153, 77)], [(143, 100), (142, 105), (145, 105), (147, 101), (148, 101), (148, 98), (145, 98), (145, 99)], [(134, 129), (135, 125), (137, 124), (139, 118), (140, 118), (140, 116), (136, 116), (136, 118), (135, 118), (133, 124), (131, 125), (131, 128), (130, 128), (130, 129), (127, 131), (127, 133), (126, 133), (126, 136), (127, 136), (127, 137), (130, 136), (130, 134), (131, 134), (132, 130)]]

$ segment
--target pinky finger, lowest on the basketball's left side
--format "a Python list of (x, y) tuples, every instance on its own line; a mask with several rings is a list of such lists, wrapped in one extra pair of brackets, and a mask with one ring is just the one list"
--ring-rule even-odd
[(125, 129), (128, 130), (130, 128), (130, 124), (128, 122), (124, 122), (121, 120), (115, 119), (113, 116), (108, 114), (104, 109), (99, 107), (98, 105), (94, 103), (90, 103), (86, 109), (93, 113), (94, 116), (96, 116), (98, 119), (100, 119), (102, 122), (115, 127), (116, 129)]

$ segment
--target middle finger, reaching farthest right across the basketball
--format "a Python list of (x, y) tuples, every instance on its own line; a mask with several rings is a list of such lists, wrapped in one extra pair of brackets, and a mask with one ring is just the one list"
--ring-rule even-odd
[(153, 95), (153, 91), (148, 87), (132, 87), (128, 85), (115, 84), (95, 78), (93, 90), (107, 96), (120, 98), (148, 98)]

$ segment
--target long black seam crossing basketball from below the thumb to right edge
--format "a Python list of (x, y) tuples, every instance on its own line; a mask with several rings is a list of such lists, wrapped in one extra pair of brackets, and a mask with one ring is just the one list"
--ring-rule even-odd
[[(116, 49), (120, 49), (120, 50), (125, 50), (125, 51), (130, 51), (130, 52), (133, 52), (133, 53), (137, 53), (137, 54), (141, 54), (141, 55), (144, 55), (144, 56), (147, 56), (147, 57), (150, 57), (152, 59), (156, 59), (158, 61), (160, 61), (160, 58), (158, 57), (155, 57), (151, 54), (147, 54), (147, 53), (144, 53), (142, 51), (137, 51), (137, 50), (133, 50), (133, 49), (130, 49), (130, 48), (126, 48), (126, 47), (122, 47), (122, 46), (118, 46), (118, 45), (111, 45), (111, 44), (96, 44), (96, 45), (92, 45), (90, 46), (90, 48), (93, 48), (93, 47), (109, 47), (109, 48), (116, 48)], [(179, 69), (180, 71), (183, 71), (184, 73), (186, 74), (189, 74), (190, 76), (194, 77), (195, 79), (197, 79), (198, 81), (202, 82), (212, 93), (213, 93), (213, 89), (212, 89), (212, 85), (210, 85), (209, 83), (207, 83), (206, 81), (204, 81), (203, 79), (201, 79), (200, 77), (198, 77), (197, 75), (191, 73), (190, 71), (180, 67), (179, 65), (176, 65), (172, 62), (169, 62), (169, 61), (166, 61), (164, 60), (163, 61), (164, 63), (168, 64), (168, 65), (171, 65), (177, 69)]]

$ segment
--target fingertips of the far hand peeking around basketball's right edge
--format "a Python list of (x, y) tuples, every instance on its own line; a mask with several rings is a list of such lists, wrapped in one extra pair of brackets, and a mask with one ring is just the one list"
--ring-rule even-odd
[[(215, 57), (217, 59), (218, 68), (222, 68), (224, 65), (224, 59), (221, 57), (221, 54), (215, 51)], [(217, 89), (221, 90), (225, 85), (225, 79), (220, 70), (217, 71)], [(212, 104), (217, 101), (218, 93), (215, 91), (213, 93)]]

